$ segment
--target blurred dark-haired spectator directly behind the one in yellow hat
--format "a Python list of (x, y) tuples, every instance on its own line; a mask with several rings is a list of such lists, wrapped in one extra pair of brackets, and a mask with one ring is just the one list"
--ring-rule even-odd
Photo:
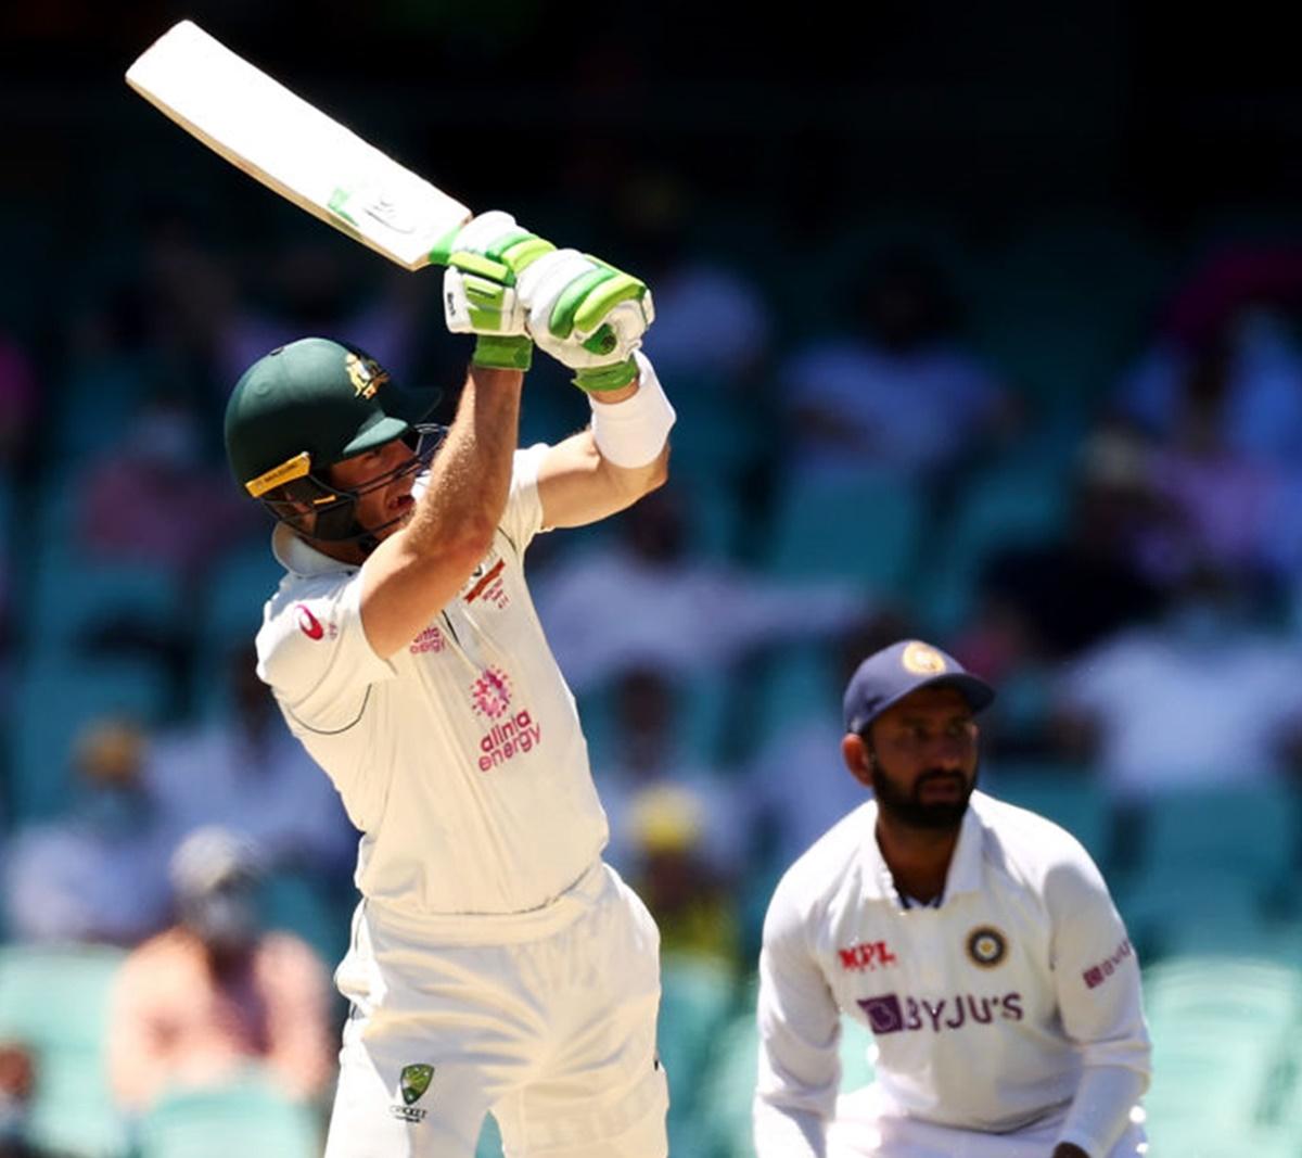
[(693, 761), (684, 742), (684, 713), (678, 685), (650, 670), (626, 672), (616, 688), (615, 759), (603, 762), (598, 784), (609, 818), (611, 843), (605, 858), (630, 874), (638, 851), (646, 793), (656, 788), (689, 792), (700, 806), (700, 856), (720, 879), (745, 869), (750, 822), (737, 784), (717, 769)]

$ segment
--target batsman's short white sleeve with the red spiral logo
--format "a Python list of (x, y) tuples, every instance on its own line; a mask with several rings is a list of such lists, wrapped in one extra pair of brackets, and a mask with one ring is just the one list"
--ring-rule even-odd
[(396, 673), (366, 638), (361, 591), (359, 571), (283, 589), (258, 633), (258, 675), (312, 731), (352, 727), (368, 688)]

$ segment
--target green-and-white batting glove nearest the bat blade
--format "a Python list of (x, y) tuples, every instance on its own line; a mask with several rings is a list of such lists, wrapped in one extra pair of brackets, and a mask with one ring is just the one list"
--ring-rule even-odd
[(443, 274), (448, 330), (478, 335), (474, 365), (529, 369), (534, 344), (517, 279), (555, 251), (555, 245), (519, 228), (500, 210), (480, 214), (435, 246), (431, 258), (448, 267)]

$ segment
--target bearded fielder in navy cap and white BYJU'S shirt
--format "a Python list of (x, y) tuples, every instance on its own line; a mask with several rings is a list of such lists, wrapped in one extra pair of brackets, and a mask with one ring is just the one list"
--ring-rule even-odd
[[(874, 798), (769, 904), (759, 1158), (1144, 1153), (1139, 968), (1086, 851), (974, 791), (975, 715), (993, 697), (918, 641), (850, 680), (841, 753)], [(838, 1105), (842, 1016), (872, 1032), (878, 1076)]]

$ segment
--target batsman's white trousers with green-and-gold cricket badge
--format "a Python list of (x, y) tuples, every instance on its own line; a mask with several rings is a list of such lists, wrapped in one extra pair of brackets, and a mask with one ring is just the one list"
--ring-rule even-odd
[(633, 890), (599, 864), (547, 911), (461, 924), (359, 907), (326, 1158), (473, 1158), (490, 1111), (506, 1158), (665, 1158), (660, 935)]

